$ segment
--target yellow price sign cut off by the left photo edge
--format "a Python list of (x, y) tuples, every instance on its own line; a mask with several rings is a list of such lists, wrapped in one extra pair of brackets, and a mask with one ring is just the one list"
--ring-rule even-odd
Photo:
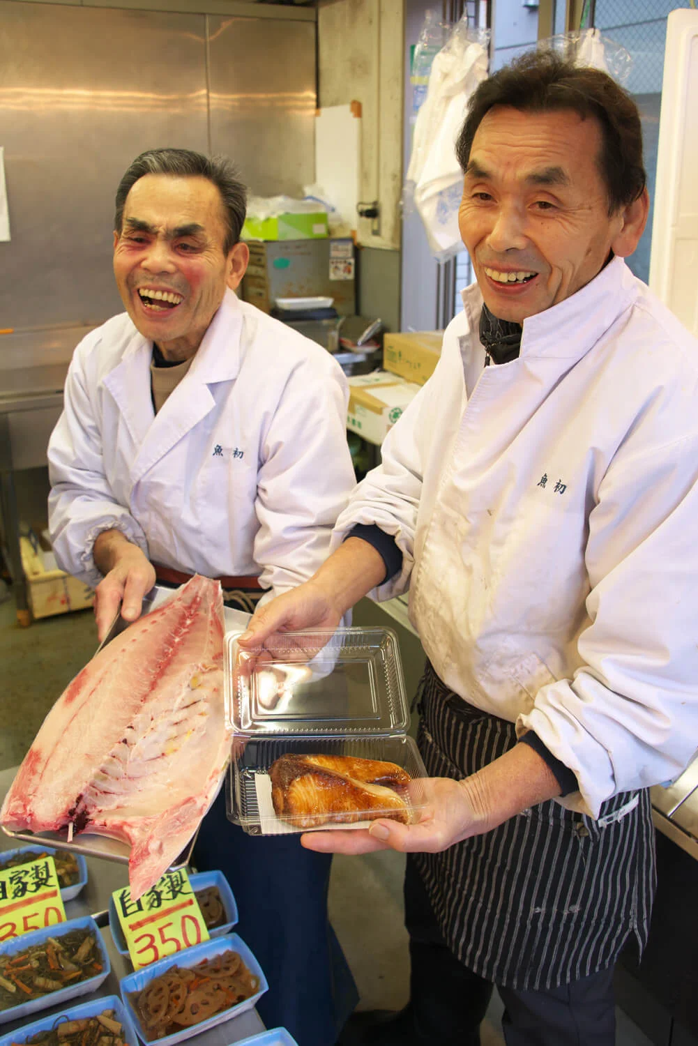
[(65, 920), (52, 857), (0, 871), (0, 941)]

